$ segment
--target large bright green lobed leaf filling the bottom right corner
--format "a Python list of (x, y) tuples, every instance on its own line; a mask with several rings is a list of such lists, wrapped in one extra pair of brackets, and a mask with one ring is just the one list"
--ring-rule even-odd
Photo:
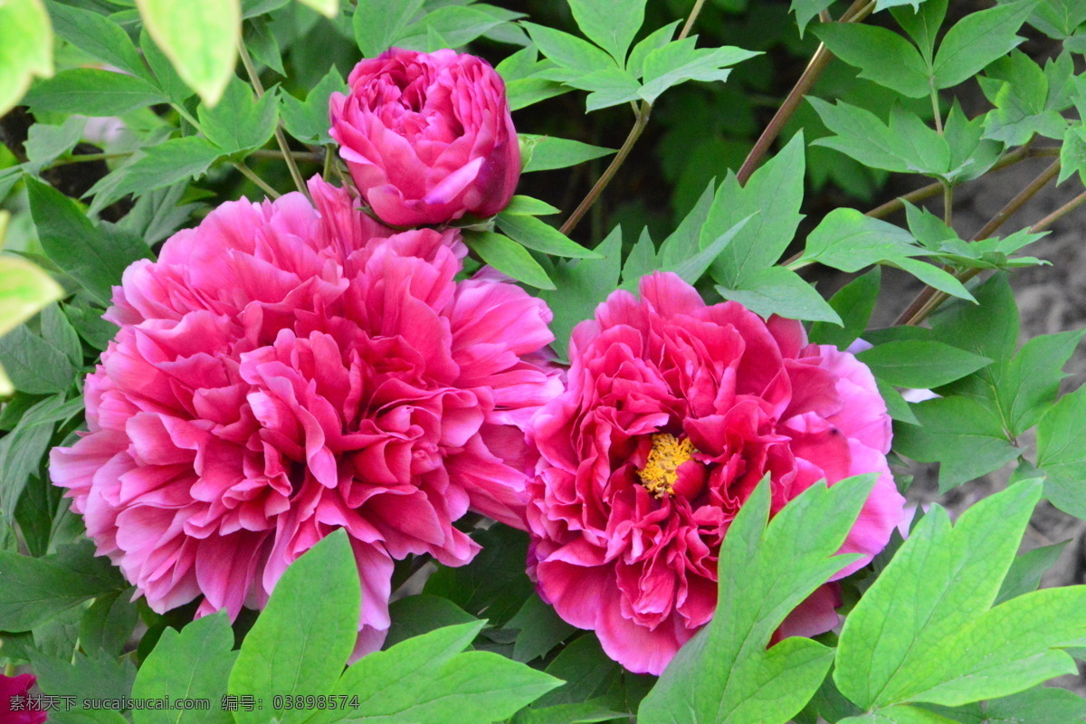
[(1073, 672), (1071, 657), (1053, 647), (1082, 636), (1086, 588), (990, 608), (1039, 496), (1036, 481), (1023, 481), (974, 505), (952, 529), (933, 507), (845, 622), (834, 671), (842, 694), (872, 712), (952, 707)]

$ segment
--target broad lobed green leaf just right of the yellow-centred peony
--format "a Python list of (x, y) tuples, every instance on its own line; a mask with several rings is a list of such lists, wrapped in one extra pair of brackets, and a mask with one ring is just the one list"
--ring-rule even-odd
[(939, 491), (998, 470), (1021, 450), (1007, 440), (1002, 422), (970, 397), (940, 397), (912, 406), (921, 427), (896, 425), (894, 449), (922, 462), (939, 463)]

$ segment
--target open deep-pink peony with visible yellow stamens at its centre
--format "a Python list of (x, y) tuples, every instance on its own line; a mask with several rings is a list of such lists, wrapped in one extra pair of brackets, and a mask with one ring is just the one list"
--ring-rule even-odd
[[(673, 274), (641, 280), (573, 330), (567, 391), (538, 414), (529, 572), (574, 626), (630, 671), (659, 674), (712, 618), (717, 555), (768, 472), (772, 511), (815, 482), (880, 473), (843, 552), (866, 564), (904, 516), (871, 372), (797, 321), (706, 306)], [(823, 586), (781, 627), (837, 622)]]

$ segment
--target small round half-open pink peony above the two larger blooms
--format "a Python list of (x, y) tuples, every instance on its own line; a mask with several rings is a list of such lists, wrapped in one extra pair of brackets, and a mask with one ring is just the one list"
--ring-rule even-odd
[(387, 224), (444, 224), (505, 208), (520, 148), (505, 84), (487, 61), (392, 48), (355, 66), (331, 98), (331, 136)]

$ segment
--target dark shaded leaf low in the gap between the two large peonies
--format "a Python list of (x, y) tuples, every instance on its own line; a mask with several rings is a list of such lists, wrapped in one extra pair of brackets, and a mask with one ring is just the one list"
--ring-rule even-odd
[(491, 625), (503, 626), (533, 590), (525, 575), (528, 536), (495, 525), (476, 531), (471, 537), (482, 550), (467, 566), (439, 568), (422, 592), (447, 598), (468, 613), (487, 618)]

